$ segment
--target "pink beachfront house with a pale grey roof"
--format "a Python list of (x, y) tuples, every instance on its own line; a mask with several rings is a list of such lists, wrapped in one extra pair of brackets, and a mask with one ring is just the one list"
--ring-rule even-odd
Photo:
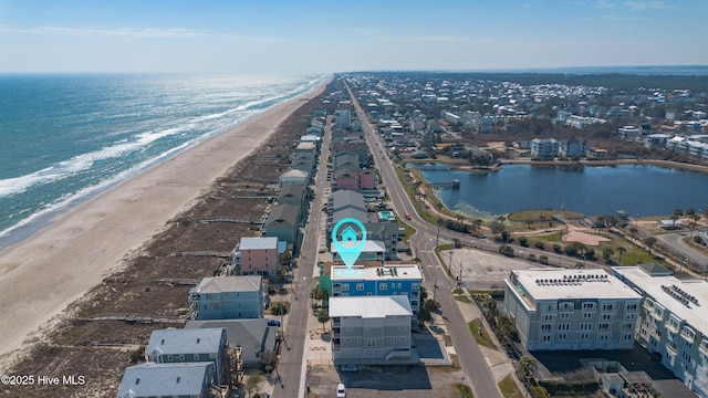
[(275, 275), (280, 272), (278, 238), (241, 238), (235, 249), (233, 263), (240, 268), (242, 275)]

